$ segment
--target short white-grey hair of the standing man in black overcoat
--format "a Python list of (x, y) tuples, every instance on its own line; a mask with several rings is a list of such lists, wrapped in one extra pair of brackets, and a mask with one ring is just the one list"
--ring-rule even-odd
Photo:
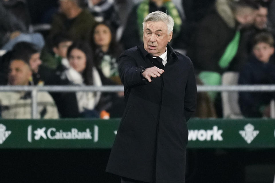
[(153, 22), (162, 21), (167, 25), (168, 34), (170, 34), (173, 31), (173, 27), (174, 27), (173, 18), (162, 11), (154, 11), (152, 13), (149, 13), (143, 20), (143, 23), (142, 23), (143, 30), (144, 30), (145, 23), (148, 21), (153, 21)]

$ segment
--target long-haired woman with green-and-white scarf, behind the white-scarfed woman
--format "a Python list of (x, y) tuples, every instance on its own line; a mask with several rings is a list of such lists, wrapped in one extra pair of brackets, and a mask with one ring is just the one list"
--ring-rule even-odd
[[(121, 46), (115, 41), (115, 34), (108, 23), (98, 23), (93, 31), (95, 64), (103, 85), (121, 85), (117, 58), (122, 53)], [(97, 106), (112, 118), (119, 118), (124, 110), (124, 92), (103, 93)]]

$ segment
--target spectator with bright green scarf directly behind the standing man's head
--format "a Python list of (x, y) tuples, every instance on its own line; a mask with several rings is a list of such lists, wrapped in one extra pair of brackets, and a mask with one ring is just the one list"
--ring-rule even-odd
[(174, 19), (175, 24), (172, 41), (177, 37), (182, 25), (182, 19), (174, 3), (170, 0), (143, 0), (135, 5), (128, 15), (121, 38), (124, 49), (138, 46), (143, 42), (143, 19), (149, 13), (158, 10), (167, 13)]

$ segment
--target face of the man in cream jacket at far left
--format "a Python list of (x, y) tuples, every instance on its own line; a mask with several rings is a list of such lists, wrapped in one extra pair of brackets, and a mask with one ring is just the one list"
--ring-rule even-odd
[(13, 60), (9, 65), (9, 84), (28, 85), (32, 71), (23, 60)]

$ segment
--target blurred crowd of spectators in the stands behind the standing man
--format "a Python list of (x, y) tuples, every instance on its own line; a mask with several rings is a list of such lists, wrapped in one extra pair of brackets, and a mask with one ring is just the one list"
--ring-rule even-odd
[[(0, 0), (0, 85), (121, 85), (117, 59), (163, 11), (197, 84), (275, 84), (275, 0)], [(199, 118), (270, 117), (272, 92), (198, 93)], [(120, 118), (123, 92), (39, 92), (40, 118)], [(235, 103), (234, 103), (235, 102)], [(234, 104), (231, 104), (234, 103)], [(1, 118), (31, 118), (30, 92), (1, 92)]]

